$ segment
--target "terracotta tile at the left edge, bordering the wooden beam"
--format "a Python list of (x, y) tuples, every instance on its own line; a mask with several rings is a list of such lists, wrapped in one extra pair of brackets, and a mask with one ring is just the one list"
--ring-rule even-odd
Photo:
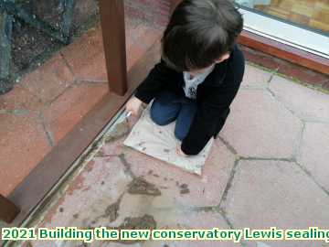
[(0, 114), (0, 194), (7, 196), (48, 153), (37, 115)]

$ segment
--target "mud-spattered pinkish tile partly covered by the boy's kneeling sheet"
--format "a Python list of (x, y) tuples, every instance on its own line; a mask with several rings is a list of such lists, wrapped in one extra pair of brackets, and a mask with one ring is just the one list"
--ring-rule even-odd
[(176, 166), (124, 148), (122, 160), (130, 164), (136, 177), (143, 177), (162, 196), (152, 201), (154, 208), (205, 207), (218, 205), (224, 193), (235, 157), (225, 145), (215, 142), (202, 170), (202, 177)]

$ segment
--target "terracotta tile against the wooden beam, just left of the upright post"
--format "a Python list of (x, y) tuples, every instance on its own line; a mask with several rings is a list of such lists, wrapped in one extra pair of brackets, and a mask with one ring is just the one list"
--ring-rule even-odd
[(109, 91), (107, 83), (81, 83), (65, 91), (45, 111), (55, 144)]

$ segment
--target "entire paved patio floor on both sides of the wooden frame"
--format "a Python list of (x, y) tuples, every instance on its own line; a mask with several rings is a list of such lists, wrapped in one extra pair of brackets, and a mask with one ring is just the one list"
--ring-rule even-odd
[[(167, 1), (127, 1), (128, 68), (160, 38)], [(154, 3), (160, 3), (155, 5)], [(148, 7), (154, 16), (145, 16)], [(141, 42), (143, 40), (143, 42)], [(247, 65), (228, 123), (203, 176), (122, 145), (129, 130), (107, 133), (94, 156), (49, 198), (27, 226), (254, 229), (328, 228), (329, 88), (327, 76), (244, 48)], [(256, 59), (257, 60), (257, 59)], [(16, 88), (0, 96), (0, 194), (7, 196), (108, 91), (101, 29), (90, 29)], [(17, 101), (19, 99), (19, 101)], [(136, 119), (132, 119), (131, 127)], [(265, 244), (265, 245), (264, 245)], [(21, 246), (18, 243), (18, 246)], [(25, 242), (23, 246), (127, 246), (122, 242)], [(134, 247), (319, 246), (324, 242), (136, 242)]]

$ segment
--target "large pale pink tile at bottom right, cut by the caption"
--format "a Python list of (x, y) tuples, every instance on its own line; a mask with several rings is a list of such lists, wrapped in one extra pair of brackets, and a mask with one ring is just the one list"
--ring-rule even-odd
[[(324, 190), (299, 166), (282, 161), (240, 161), (223, 206), (235, 228), (325, 229), (329, 222)], [(269, 244), (302, 247), (322, 242)]]

